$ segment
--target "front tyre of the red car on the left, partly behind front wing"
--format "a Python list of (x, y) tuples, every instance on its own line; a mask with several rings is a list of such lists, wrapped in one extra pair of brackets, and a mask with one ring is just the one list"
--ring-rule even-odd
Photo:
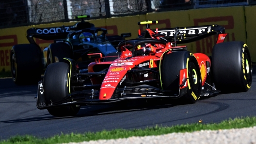
[[(69, 66), (64, 62), (52, 63), (47, 67), (43, 81), (46, 105), (61, 103), (68, 96), (69, 76)], [(80, 106), (71, 105), (47, 110), (53, 116), (70, 116), (76, 115)]]

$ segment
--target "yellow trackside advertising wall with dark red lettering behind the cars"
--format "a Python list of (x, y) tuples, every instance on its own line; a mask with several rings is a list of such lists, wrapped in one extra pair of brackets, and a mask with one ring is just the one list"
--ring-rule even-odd
[[(135, 16), (115, 17), (108, 19), (89, 20), (95, 27), (108, 29), (108, 35), (120, 35), (131, 32), (132, 37), (138, 36), (138, 29), (144, 30), (145, 25), (138, 26), (137, 23), (146, 20), (158, 20), (158, 24), (150, 25), (151, 29), (168, 29), (175, 27), (190, 27), (203, 25), (221, 25), (228, 33), (225, 41), (243, 41), (247, 43), (251, 52), (252, 61), (256, 61), (256, 53), (253, 47), (256, 45), (254, 35), (256, 6), (236, 6), (222, 8), (192, 9), (183, 11), (171, 11), (150, 13)], [(245, 17), (247, 19), (245, 19)], [(10, 71), (10, 50), (13, 45), (29, 43), (26, 39), (26, 30), (33, 27), (46, 28), (58, 26), (70, 26), (72, 23), (54, 23), (37, 26), (26, 26), (18, 28), (0, 29), (0, 71)], [(211, 36), (197, 42), (187, 43), (188, 50), (192, 53), (205, 53), (211, 55), (212, 48), (218, 36)], [(53, 41), (35, 39), (35, 42), (43, 48)]]

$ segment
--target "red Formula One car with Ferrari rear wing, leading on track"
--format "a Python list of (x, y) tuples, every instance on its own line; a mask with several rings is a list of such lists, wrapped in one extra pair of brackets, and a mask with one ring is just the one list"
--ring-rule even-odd
[[(88, 73), (76, 61), (50, 64), (38, 84), (37, 108), (54, 116), (76, 115), (80, 106), (125, 100), (181, 99), (195, 103), (201, 96), (247, 91), (252, 84), (252, 62), (243, 42), (224, 42), (218, 25), (139, 31), (137, 39), (118, 44), (120, 56), (95, 58)], [(176, 46), (219, 34), (212, 56)], [(112, 60), (110, 60), (112, 59)], [(86, 84), (87, 79), (91, 84)]]

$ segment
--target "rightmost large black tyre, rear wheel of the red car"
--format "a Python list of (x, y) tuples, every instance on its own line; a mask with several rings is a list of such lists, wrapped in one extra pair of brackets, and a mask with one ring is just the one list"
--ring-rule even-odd
[(252, 61), (243, 42), (218, 43), (212, 51), (214, 85), (224, 93), (248, 91), (252, 84)]

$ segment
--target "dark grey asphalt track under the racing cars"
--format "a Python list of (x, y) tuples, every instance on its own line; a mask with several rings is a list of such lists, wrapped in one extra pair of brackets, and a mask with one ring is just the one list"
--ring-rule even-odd
[[(256, 70), (256, 68), (254, 68)], [(138, 129), (152, 126), (220, 122), (228, 118), (256, 116), (256, 72), (248, 92), (201, 98), (195, 104), (172, 105), (129, 102), (126, 105), (81, 107), (76, 116), (54, 117), (36, 108), (37, 86), (16, 86), (0, 79), (0, 140), (15, 135), (50, 137), (86, 131)]]

